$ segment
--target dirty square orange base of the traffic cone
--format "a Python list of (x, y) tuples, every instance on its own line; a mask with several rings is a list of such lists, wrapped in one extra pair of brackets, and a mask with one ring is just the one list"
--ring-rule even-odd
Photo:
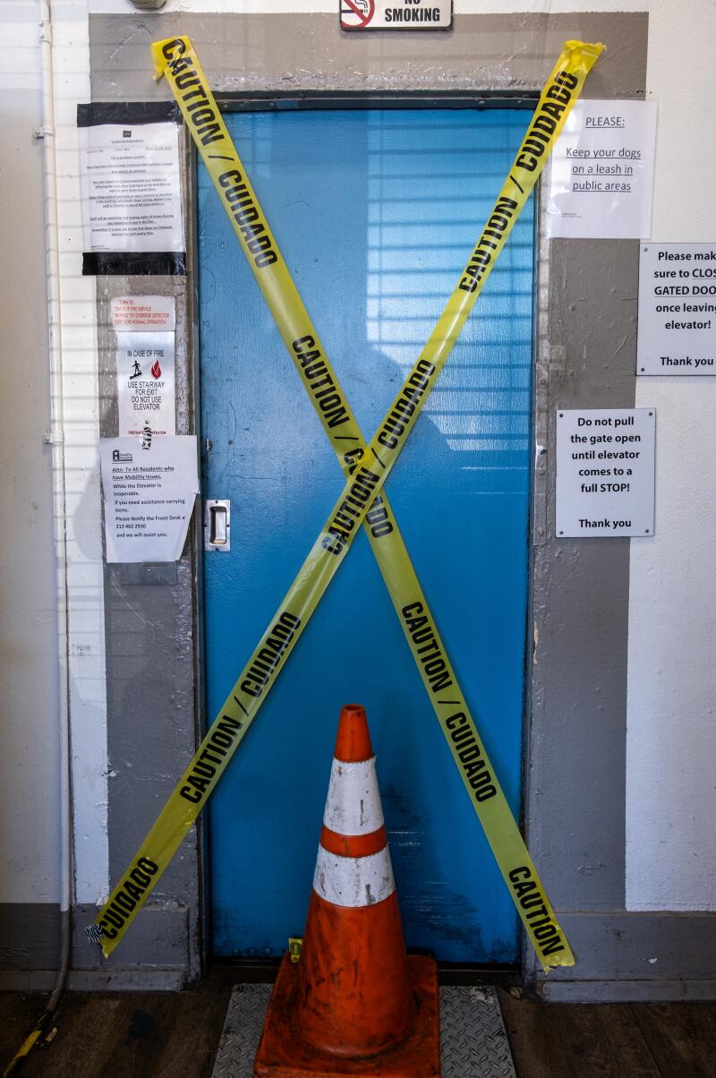
[[(303, 958), (301, 958), (303, 962)], [(415, 1001), (413, 1023), (405, 1038), (375, 1056), (331, 1056), (302, 1036), (297, 1026), (295, 998), (301, 962), (284, 957), (271, 998), (271, 1022), (264, 1026), (253, 1063), (254, 1078), (439, 1078), (440, 1013), (438, 967), (433, 958), (408, 955), (408, 981)]]

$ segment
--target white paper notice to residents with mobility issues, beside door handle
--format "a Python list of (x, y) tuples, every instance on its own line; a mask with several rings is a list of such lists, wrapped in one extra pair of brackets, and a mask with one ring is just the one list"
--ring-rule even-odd
[(176, 562), (198, 493), (196, 438), (102, 438), (108, 562)]

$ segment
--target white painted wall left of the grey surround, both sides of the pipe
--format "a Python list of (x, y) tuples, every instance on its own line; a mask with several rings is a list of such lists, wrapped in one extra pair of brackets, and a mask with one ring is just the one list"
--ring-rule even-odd
[[(90, 99), (86, 0), (55, 0), (75, 897), (107, 894), (107, 717), (94, 280), (82, 277), (75, 109)], [(0, 4), (0, 902), (59, 897), (53, 544), (40, 5)]]

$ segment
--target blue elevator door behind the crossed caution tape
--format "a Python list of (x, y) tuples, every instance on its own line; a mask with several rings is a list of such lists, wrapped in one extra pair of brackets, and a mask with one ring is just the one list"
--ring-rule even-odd
[[(369, 439), (455, 286), (529, 113), (233, 113), (231, 134)], [(343, 479), (207, 175), (198, 175), (214, 718)], [(460, 686), (520, 812), (533, 220), (527, 207), (387, 490)], [(307, 467), (309, 465), (309, 467)], [(341, 705), (368, 710), (409, 946), (510, 963), (518, 922), (359, 535), (210, 805), (214, 949), (301, 935)]]

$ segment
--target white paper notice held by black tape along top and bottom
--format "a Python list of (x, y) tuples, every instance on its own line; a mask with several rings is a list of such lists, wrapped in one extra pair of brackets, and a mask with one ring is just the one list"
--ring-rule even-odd
[(179, 127), (80, 127), (85, 251), (183, 251)]

